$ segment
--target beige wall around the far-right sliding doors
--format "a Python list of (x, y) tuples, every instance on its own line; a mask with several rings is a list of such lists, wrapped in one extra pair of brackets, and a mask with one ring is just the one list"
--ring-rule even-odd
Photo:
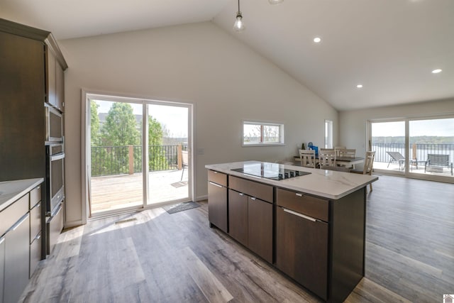
[(421, 116), (454, 114), (454, 99), (426, 101), (399, 106), (339, 112), (339, 144), (356, 148), (358, 155), (367, 149), (367, 121), (374, 119), (403, 119)]

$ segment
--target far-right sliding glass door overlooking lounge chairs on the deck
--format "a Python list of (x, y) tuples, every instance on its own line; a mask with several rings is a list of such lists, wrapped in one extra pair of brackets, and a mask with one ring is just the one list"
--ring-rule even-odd
[(453, 181), (454, 118), (370, 121), (376, 171)]

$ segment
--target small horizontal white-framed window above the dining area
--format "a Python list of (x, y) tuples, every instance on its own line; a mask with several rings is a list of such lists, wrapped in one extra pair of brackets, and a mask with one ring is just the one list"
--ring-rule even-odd
[(243, 121), (243, 146), (284, 145), (284, 124)]

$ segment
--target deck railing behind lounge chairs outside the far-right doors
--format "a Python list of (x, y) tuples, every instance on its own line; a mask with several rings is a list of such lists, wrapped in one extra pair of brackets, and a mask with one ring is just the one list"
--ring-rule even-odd
[[(419, 144), (411, 143), (410, 146), (410, 159), (425, 161), (427, 154), (436, 155), (449, 155), (449, 161), (454, 162), (454, 144)], [(399, 152), (405, 157), (405, 144), (404, 143), (372, 143), (372, 150), (375, 151), (376, 162), (389, 162), (391, 157), (388, 151)]]

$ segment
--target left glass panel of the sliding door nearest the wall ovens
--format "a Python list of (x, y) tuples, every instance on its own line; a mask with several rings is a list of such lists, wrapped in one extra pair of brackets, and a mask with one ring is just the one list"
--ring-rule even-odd
[(142, 104), (90, 100), (90, 213), (143, 207)]

